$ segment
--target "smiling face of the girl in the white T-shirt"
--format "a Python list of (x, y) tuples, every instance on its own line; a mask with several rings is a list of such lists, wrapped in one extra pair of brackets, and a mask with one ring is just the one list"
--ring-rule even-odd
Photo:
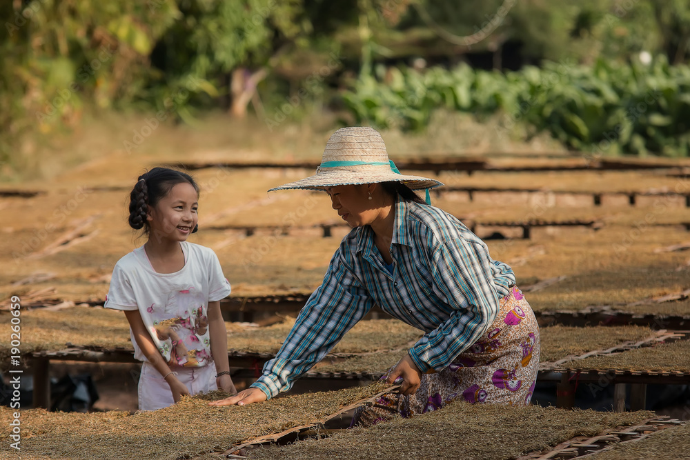
[(146, 220), (150, 237), (159, 241), (185, 241), (199, 220), (197, 190), (188, 182), (177, 183), (161, 198), (155, 207), (149, 208)]

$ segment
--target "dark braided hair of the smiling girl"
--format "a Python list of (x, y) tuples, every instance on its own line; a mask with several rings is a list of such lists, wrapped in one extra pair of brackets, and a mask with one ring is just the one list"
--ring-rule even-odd
[[(146, 221), (148, 207), (154, 208), (170, 192), (170, 189), (178, 183), (185, 182), (193, 186), (199, 194), (199, 186), (186, 172), (168, 168), (153, 168), (141, 174), (139, 181), (130, 192), (130, 227), (135, 230), (144, 228), (144, 232), (148, 233), (148, 222)], [(196, 232), (198, 228), (199, 226), (195, 226), (192, 233)]]

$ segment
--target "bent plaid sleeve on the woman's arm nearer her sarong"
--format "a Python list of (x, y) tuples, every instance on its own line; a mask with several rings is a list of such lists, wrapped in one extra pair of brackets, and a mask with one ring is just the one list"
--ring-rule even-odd
[(433, 251), (433, 290), (451, 314), (409, 350), (422, 372), (449, 366), (493, 323), (500, 292), (492, 266), (486, 247), (466, 239), (441, 241)]

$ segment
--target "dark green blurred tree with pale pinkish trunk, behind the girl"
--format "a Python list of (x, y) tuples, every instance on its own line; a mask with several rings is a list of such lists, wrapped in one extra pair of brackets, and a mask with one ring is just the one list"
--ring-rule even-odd
[(181, 19), (154, 50), (161, 79), (153, 88), (174, 94), (189, 81), (210, 82), (207, 94), (230, 95), (238, 117), (280, 54), (311, 32), (298, 20), (301, 0), (178, 0), (178, 8)]

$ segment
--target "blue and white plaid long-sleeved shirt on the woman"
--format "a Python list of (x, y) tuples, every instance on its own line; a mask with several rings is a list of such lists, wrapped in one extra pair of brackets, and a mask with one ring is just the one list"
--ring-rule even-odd
[(343, 239), (324, 283), (253, 387), (269, 398), (289, 390), (374, 304), (424, 331), (410, 356), (422, 372), (442, 370), (486, 332), (515, 285), (509, 266), (493, 261), (482, 240), (433, 206), (397, 201), (392, 274), (373, 240), (370, 226)]

